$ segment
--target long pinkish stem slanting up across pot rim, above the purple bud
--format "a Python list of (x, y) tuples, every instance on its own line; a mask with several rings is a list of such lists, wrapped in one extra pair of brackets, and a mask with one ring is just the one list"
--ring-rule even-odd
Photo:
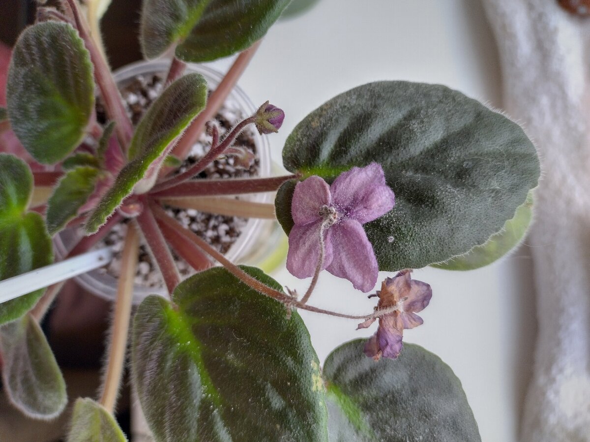
[(227, 96), (230, 95), (231, 90), (234, 89), (235, 83), (237, 83), (238, 79), (248, 66), (248, 63), (250, 63), (250, 60), (256, 53), (259, 45), (260, 41), (257, 41), (257, 43), (254, 43), (235, 59), (234, 64), (232, 64), (230, 70), (227, 71), (227, 74), (225, 74), (221, 83), (217, 86), (217, 89), (215, 89), (209, 96), (205, 110), (199, 113), (191, 125), (186, 128), (183, 137), (172, 152), (176, 157), (181, 158), (181, 160), (188, 157), (192, 146), (199, 137), (201, 137), (203, 129), (205, 128), (205, 123), (213, 119), (215, 113), (221, 108)]

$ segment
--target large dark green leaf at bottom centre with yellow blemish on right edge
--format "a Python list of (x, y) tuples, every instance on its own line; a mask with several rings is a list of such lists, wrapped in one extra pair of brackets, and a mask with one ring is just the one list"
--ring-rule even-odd
[(287, 319), (222, 268), (181, 282), (173, 301), (146, 298), (133, 326), (133, 379), (158, 442), (327, 440), (319, 362), (299, 314)]

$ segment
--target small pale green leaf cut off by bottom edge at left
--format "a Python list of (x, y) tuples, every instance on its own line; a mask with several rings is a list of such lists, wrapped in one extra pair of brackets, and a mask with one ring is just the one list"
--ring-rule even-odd
[(102, 405), (90, 398), (78, 398), (66, 442), (127, 442), (127, 438)]

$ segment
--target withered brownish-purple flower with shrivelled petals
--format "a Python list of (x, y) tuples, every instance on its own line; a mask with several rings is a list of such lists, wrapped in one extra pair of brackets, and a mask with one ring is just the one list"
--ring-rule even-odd
[[(404, 329), (413, 329), (424, 322), (416, 312), (428, 306), (432, 289), (425, 282), (412, 280), (410, 271), (404, 270), (393, 278), (386, 278), (377, 295), (377, 309), (392, 308), (393, 311), (379, 317), (379, 328), (365, 344), (365, 355), (375, 360), (381, 356), (395, 359), (403, 346)], [(369, 318), (359, 324), (357, 330), (366, 329), (373, 322), (375, 318)]]

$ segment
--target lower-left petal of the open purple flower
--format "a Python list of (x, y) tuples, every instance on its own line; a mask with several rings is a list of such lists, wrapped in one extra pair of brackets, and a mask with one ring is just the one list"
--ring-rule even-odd
[[(309, 223), (305, 226), (294, 225), (289, 233), (289, 252), (287, 253), (287, 270), (297, 278), (313, 276), (320, 257), (321, 223)], [(332, 242), (330, 229), (324, 233), (324, 264), (326, 268), (332, 262)]]

